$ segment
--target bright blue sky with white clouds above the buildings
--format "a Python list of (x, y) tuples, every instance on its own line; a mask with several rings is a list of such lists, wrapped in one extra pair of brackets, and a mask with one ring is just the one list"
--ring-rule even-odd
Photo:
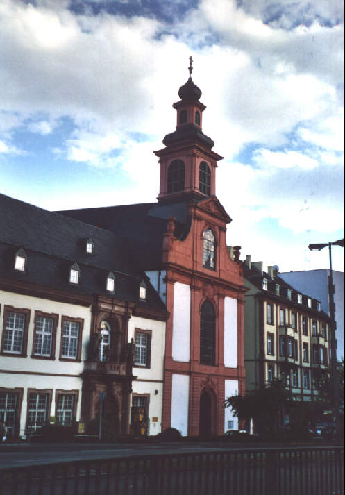
[(155, 201), (190, 55), (228, 244), (327, 267), (308, 244), (344, 237), (337, 0), (2, 0), (0, 191), (48, 210)]

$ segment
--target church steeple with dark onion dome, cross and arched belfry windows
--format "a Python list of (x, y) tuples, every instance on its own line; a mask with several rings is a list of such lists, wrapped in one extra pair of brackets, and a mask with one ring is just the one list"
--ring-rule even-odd
[(169, 202), (215, 195), (215, 169), (223, 157), (212, 151), (214, 142), (202, 131), (205, 105), (199, 101), (201, 90), (190, 77), (178, 90), (176, 129), (165, 135), (165, 148), (154, 151), (160, 158), (159, 201)]

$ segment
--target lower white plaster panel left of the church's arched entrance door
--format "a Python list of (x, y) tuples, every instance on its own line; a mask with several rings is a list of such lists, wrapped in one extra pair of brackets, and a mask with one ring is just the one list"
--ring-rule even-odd
[(171, 427), (176, 428), (181, 435), (188, 431), (188, 405), (190, 392), (190, 377), (173, 374), (171, 389)]

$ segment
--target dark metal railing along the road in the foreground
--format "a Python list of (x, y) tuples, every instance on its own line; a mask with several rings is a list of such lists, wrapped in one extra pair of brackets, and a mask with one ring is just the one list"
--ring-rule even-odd
[(1, 495), (344, 495), (344, 447), (138, 455), (0, 470)]

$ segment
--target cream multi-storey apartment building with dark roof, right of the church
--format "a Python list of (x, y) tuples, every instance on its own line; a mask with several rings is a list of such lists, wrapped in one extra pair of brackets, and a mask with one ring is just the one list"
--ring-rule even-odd
[(287, 284), (274, 267), (246, 256), (246, 389), (284, 380), (297, 400), (312, 401), (330, 367), (329, 317), (321, 303)]

